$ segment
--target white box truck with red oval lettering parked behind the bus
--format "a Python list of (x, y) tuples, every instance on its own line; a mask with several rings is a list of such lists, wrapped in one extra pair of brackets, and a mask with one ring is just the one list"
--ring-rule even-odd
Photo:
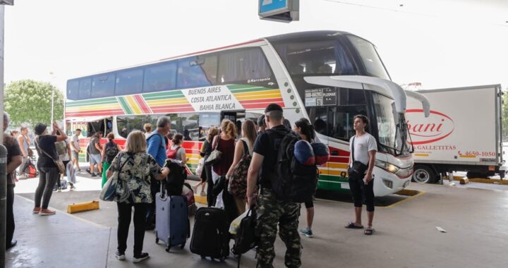
[(440, 175), (467, 171), (468, 178), (504, 178), (501, 85), (419, 90), (430, 101), (408, 97), (406, 120), (414, 150), (413, 180), (434, 183)]

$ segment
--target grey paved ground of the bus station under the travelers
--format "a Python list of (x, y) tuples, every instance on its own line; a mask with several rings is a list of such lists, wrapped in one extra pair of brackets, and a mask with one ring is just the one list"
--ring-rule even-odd
[[(36, 183), (35, 179), (22, 181), (16, 193)], [(66, 209), (72, 202), (97, 200), (99, 186), (92, 189), (95, 183), (100, 184), (98, 179), (83, 176), (76, 185), (78, 191), (54, 193), (50, 205)], [(416, 184), (410, 188), (425, 194), (387, 208), (377, 207), (377, 232), (370, 237), (361, 230), (344, 229), (353, 217), (351, 203), (316, 200), (315, 238), (302, 238), (302, 267), (508, 267), (508, 191)], [(152, 232), (145, 236), (144, 249), (152, 256), (149, 260), (137, 265), (131, 262), (131, 233), (128, 260), (120, 262), (113, 256), (114, 203), (101, 202), (98, 211), (75, 216), (59, 211), (56, 216), (39, 217), (30, 214), (32, 203), (23, 197), (32, 199), (33, 194), (27, 191), (16, 197), (15, 238), (20, 244), (8, 251), (7, 267), (236, 267), (232, 258), (224, 263), (200, 260), (188, 245), (167, 253), (163, 245), (155, 244)], [(337, 195), (334, 199), (348, 197)], [(404, 197), (388, 197), (378, 204), (397, 200)], [(301, 227), (304, 221), (305, 212)], [(447, 233), (440, 233), (436, 226)], [(274, 267), (284, 267), (284, 245), (279, 239), (276, 252)], [(243, 257), (242, 267), (255, 267), (253, 252)]]

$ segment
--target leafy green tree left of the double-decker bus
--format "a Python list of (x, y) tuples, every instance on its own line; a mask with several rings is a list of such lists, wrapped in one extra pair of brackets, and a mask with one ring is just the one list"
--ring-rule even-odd
[(20, 126), (51, 123), (52, 91), (54, 90), (54, 120), (63, 119), (63, 95), (49, 83), (19, 80), (7, 85), (4, 97), (5, 111), (11, 124)]

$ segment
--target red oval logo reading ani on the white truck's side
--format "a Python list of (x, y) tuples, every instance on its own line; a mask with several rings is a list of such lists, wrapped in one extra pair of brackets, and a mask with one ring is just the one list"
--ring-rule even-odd
[(455, 129), (454, 121), (439, 111), (430, 111), (425, 118), (423, 109), (409, 109), (406, 120), (413, 145), (424, 145), (447, 138)]

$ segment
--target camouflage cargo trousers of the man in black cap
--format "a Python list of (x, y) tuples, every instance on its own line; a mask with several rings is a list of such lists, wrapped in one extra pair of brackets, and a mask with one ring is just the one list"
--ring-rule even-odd
[(260, 235), (258, 254), (256, 255), (258, 264), (256, 267), (273, 267), (277, 224), (279, 224), (279, 236), (286, 244), (284, 264), (286, 264), (286, 267), (291, 268), (301, 266), (298, 217), (300, 217), (300, 204), (278, 202), (270, 190), (263, 189), (261, 191), (258, 196), (258, 222), (256, 224), (256, 231)]

